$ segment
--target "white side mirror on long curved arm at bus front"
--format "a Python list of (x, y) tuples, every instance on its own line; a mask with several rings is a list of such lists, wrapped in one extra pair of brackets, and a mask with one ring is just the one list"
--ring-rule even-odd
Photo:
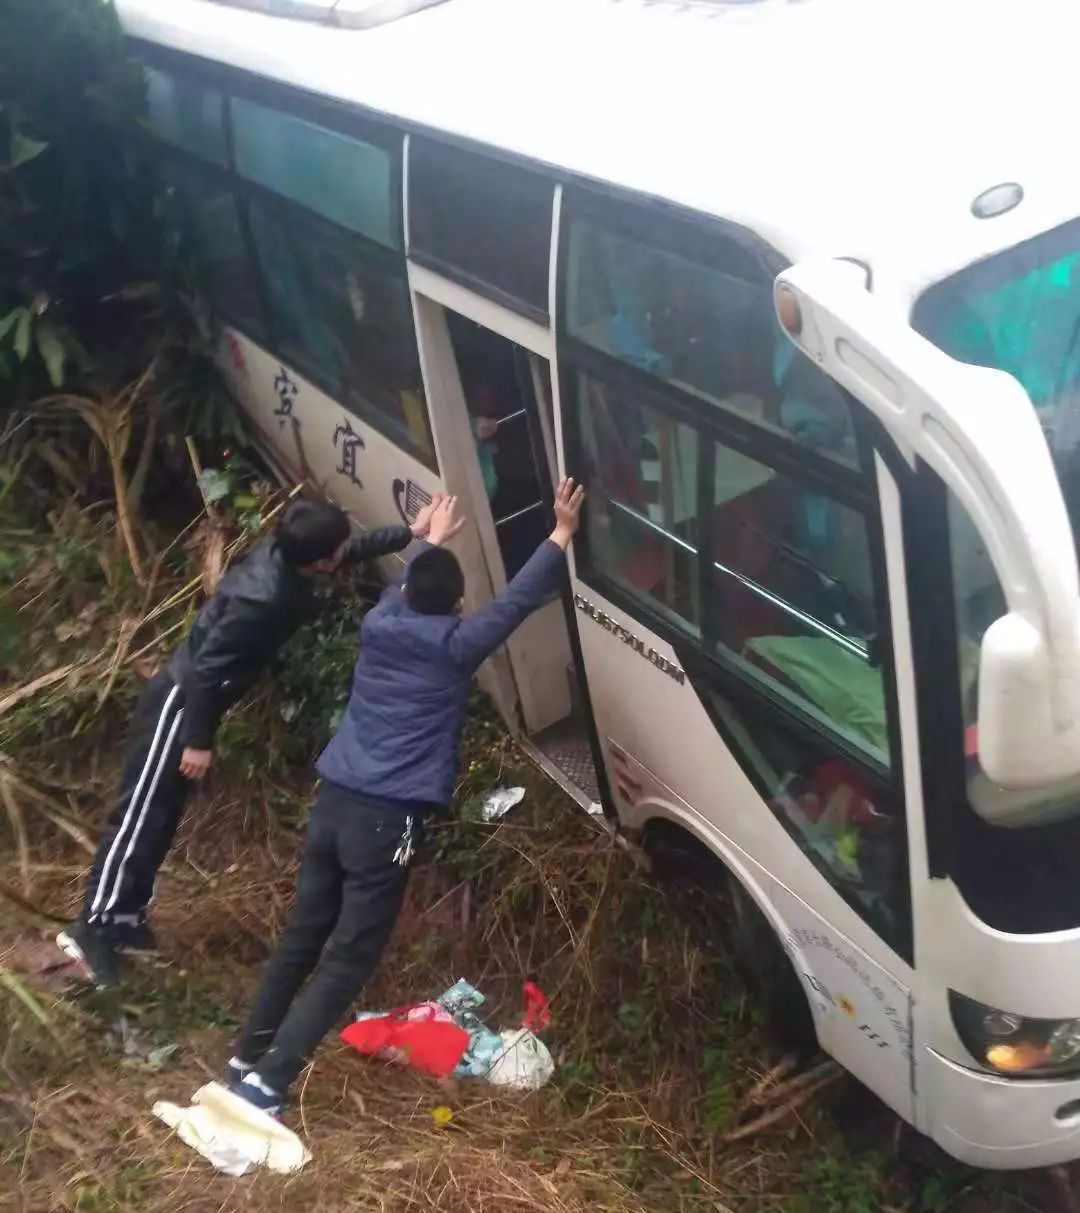
[[(849, 261), (801, 262), (774, 290), (790, 340), (923, 460), (971, 516), (1005, 592), (979, 666), (979, 761), (1004, 787), (1080, 775), (1080, 579), (1035, 409), (1001, 371), (957, 363), (866, 290)], [(1001, 809), (999, 825), (1021, 824)], [(1027, 819), (1024, 819), (1027, 820)]]

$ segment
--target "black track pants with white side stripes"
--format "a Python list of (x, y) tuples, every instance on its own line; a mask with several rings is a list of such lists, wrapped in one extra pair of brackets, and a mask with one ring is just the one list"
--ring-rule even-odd
[(135, 923), (149, 905), (191, 787), (180, 774), (182, 717), (183, 694), (163, 671), (135, 710), (120, 796), (90, 870), (87, 922)]

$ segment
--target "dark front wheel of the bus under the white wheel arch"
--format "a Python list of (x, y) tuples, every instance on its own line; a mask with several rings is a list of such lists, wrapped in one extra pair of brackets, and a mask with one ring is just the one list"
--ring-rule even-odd
[(761, 1008), (766, 1032), (786, 1053), (794, 1053), (800, 1059), (812, 1057), (818, 1048), (818, 1033), (806, 991), (791, 959), (754, 898), (734, 879), (731, 882), (731, 904), (735, 961)]

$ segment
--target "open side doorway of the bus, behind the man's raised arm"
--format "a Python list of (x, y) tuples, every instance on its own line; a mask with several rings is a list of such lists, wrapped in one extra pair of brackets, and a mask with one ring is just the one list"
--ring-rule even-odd
[[(484, 500), (472, 509), (501, 590), (552, 526), (557, 478), (551, 370), (545, 358), (445, 311)], [(552, 598), (507, 642), (522, 744), (575, 799), (599, 799), (585, 696), (565, 604)]]

